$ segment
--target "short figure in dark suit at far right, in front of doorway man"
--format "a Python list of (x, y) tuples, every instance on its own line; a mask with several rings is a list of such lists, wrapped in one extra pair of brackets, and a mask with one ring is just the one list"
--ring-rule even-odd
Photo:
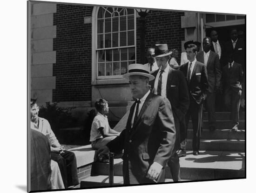
[(234, 124), (232, 131), (238, 130), (239, 108), (242, 95), (243, 67), (234, 61), (234, 55), (229, 54), (229, 63), (223, 68), (223, 86), (225, 106), (231, 111)]

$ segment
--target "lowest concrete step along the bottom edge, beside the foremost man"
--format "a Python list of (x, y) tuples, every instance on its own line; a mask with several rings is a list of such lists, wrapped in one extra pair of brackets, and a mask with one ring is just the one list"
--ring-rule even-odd
[[(190, 180), (181, 180), (181, 181), (190, 181)], [(165, 182), (173, 182), (172, 179), (165, 179)], [(122, 186), (123, 185), (123, 177), (122, 176), (114, 176), (114, 186)], [(105, 187), (109, 186), (109, 177), (108, 175), (97, 175), (90, 176), (81, 180), (80, 187)]]

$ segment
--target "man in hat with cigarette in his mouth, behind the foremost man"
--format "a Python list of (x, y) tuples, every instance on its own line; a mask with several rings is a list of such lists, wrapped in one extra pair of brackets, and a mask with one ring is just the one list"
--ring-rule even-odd
[(151, 81), (152, 92), (167, 98), (172, 106), (176, 128), (175, 146), (168, 166), (174, 181), (180, 179), (180, 160), (176, 151), (180, 147), (180, 138), (186, 132), (185, 115), (189, 108), (189, 91), (186, 79), (181, 71), (168, 65), (168, 57), (172, 52), (168, 51), (167, 44), (155, 46), (155, 60), (159, 67), (152, 73), (155, 81)]

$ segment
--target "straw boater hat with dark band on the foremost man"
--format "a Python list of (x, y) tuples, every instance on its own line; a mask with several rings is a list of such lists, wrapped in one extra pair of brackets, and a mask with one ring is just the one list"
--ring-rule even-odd
[(128, 67), (128, 73), (123, 74), (125, 79), (129, 79), (131, 75), (141, 75), (148, 77), (149, 81), (154, 80), (155, 77), (148, 72), (148, 66), (143, 64), (131, 64)]

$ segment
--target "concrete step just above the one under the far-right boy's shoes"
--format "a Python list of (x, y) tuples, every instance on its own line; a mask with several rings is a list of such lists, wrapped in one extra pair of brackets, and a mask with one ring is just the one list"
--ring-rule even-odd
[[(216, 129), (232, 129), (234, 124), (231, 120), (216, 120)], [(202, 121), (202, 128), (209, 129), (208, 120)], [(189, 129), (192, 129), (192, 121), (189, 120)], [(245, 129), (245, 120), (239, 121), (238, 129)]]

